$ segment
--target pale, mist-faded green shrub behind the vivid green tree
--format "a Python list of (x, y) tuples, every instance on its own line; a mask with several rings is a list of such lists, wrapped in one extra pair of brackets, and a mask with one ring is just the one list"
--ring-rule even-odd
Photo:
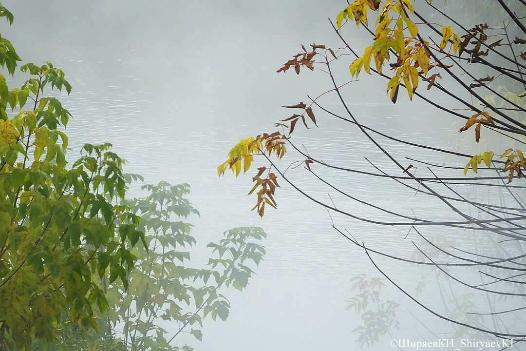
[(186, 198), (189, 185), (160, 182), (143, 190), (148, 195), (131, 200), (129, 207), (140, 214), (139, 230), (146, 233), (148, 249), (140, 245), (131, 249), (137, 260), (127, 287), (108, 287), (108, 274), (103, 274), (99, 283), (109, 306), (105, 314), (97, 315), (98, 332), (79, 329), (65, 316), (57, 325), (57, 340), (49, 345), (34, 343), (35, 349), (190, 351), (191, 346), (175, 346), (181, 333), (201, 340), (204, 317), (228, 317), (230, 304), (221, 288), (247, 286), (254, 273), (250, 265), (259, 265), (265, 254), (257, 243), (266, 237), (265, 232), (256, 227), (227, 230), (219, 243), (208, 245), (213, 249), (208, 269), (188, 267), (187, 249), (196, 239), (190, 233), (193, 225), (182, 220), (199, 214)]

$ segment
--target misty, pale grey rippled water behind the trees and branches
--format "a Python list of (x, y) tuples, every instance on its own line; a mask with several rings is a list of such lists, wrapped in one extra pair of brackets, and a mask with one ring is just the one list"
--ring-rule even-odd
[[(203, 343), (191, 337), (183, 340), (203, 351), (359, 347), (357, 334), (351, 330), (361, 319), (345, 310), (346, 299), (353, 295), (349, 279), (379, 273), (363, 249), (338, 234), (331, 224), (334, 221), (360, 241), (401, 256), (414, 252), (414, 233), (408, 235), (407, 227), (370, 225), (329, 215), (284, 180), (277, 190), (278, 210), (269, 208), (260, 219), (250, 212), (255, 198), (246, 196), (251, 176), (235, 179), (227, 171), (218, 178), (216, 170), (239, 139), (272, 132), (272, 124), (289, 116), (290, 110), (279, 105), (308, 101), (306, 94), (315, 96), (331, 87), (322, 72), (300, 76), (274, 72), (299, 52), (302, 43), (341, 45), (325, 18), (335, 17), (342, 4), (54, 1), (29, 7), (6, 1), (4, 5), (14, 13), (15, 24), (2, 33), (12, 39), (19, 55), (35, 63), (52, 61), (64, 69), (73, 85), (72, 95), (62, 98), (74, 116), (67, 127), (70, 160), (84, 143), (109, 141), (127, 159), (127, 171), (143, 175), (147, 183), (189, 183), (190, 198), (201, 213), (201, 218), (189, 220), (196, 225), (194, 235), (201, 243), (193, 253), (197, 262), (206, 258), (204, 245), (218, 240), (226, 229), (255, 225), (266, 230), (267, 255), (257, 276), (242, 294), (227, 293), (232, 305), (227, 322), (207, 322)], [(313, 11), (319, 7), (326, 13)], [(341, 77), (346, 77), (347, 65), (340, 65)], [(371, 77), (362, 79), (360, 86), (372, 89), (379, 83)], [(399, 99), (393, 106), (382, 94), (368, 96), (366, 89), (355, 86), (350, 84), (344, 92), (361, 123), (411, 141), (444, 144), (442, 136), (449, 131), (449, 121), (436, 118), (436, 112), (422, 112), (423, 105), (410, 105), (407, 99)], [(335, 96), (321, 101), (331, 110), (343, 112)], [(319, 109), (315, 113), (320, 128), (304, 131), (298, 124), (298, 147), (305, 143), (312, 157), (342, 167), (374, 172), (367, 157), (382, 169), (395, 172), (396, 167), (356, 127)], [(422, 136), (422, 131), (433, 132)], [(394, 142), (384, 145), (396, 155), (407, 153)], [(434, 160), (429, 153), (411, 156)], [(280, 166), (286, 168), (291, 161)], [(356, 216), (388, 220), (389, 216), (343, 196), (329, 198), (330, 189), (319, 186), (301, 168), (287, 176), (309, 195), (328, 205), (334, 202)], [(418, 174), (428, 172), (419, 166)], [(346, 172), (322, 171), (320, 175), (345, 187), (350, 195), (404, 215), (411, 216), (414, 210), (418, 216), (451, 220), (436, 200), (407, 192), (390, 181)], [(138, 187), (132, 193), (139, 194)], [(401, 280), (426, 274), (414, 267), (380, 262)], [(390, 299), (410, 306), (394, 288), (386, 289)], [(415, 308), (410, 312), (421, 314)], [(438, 322), (433, 319), (432, 323)], [(406, 337), (409, 332), (402, 329), (396, 333)], [(410, 333), (414, 334), (412, 329)], [(385, 349), (385, 345), (377, 347)]]

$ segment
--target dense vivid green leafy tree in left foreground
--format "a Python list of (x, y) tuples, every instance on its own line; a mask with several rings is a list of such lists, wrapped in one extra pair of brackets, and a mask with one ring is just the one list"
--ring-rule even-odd
[[(1, 5), (0, 16), (13, 22)], [(0, 64), (13, 75), (21, 59), (6, 38), (0, 42)], [(83, 328), (97, 328), (93, 305), (105, 312), (108, 302), (93, 277), (109, 267), (108, 283), (119, 278), (127, 284), (134, 263), (129, 239), (144, 240), (136, 230), (138, 217), (117, 205), (127, 176), (110, 144), (85, 145), (83, 156), (66, 167), (68, 138), (59, 128), (71, 115), (57, 98), (45, 95), (49, 86), (71, 91), (64, 72), (50, 63), (28, 63), (21, 71), (30, 77), (19, 89), (10, 90), (0, 75), (0, 341), (5, 349), (28, 349), (34, 338), (53, 340), (64, 310)]]

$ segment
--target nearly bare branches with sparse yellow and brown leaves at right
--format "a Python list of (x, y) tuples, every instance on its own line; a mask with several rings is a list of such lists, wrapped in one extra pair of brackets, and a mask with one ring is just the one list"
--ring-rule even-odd
[[(458, 11), (459, 6), (469, 8), (470, 14), (464, 16), (464, 12)], [(241, 140), (231, 149), (227, 161), (219, 165), (218, 173), (222, 175), (230, 168), (237, 176), (241, 170), (249, 170), (256, 156), (263, 160), (249, 192), (257, 194), (253, 209), (260, 216), (265, 213), (265, 205), (277, 206), (279, 180), (338, 218), (368, 223), (371, 228), (388, 226), (392, 232), (406, 228), (401, 238), (416, 236), (418, 240), (413, 243), (421, 259), (402, 257), (390, 247), (371, 247), (359, 233), (333, 222), (339, 234), (365, 250), (379, 272), (431, 314), (478, 332), (523, 340), (526, 334), (522, 299), (526, 294), (518, 277), (523, 274), (526, 235), (522, 200), (525, 187), (521, 179), (526, 173), (522, 152), (526, 143), (526, 26), (522, 17), (526, 2), (498, 0), (488, 6), (481, 9), (480, 2), (468, 1), (437, 5), (431, 0), (356, 0), (342, 6), (342, 11), (330, 20), (342, 48), (312, 44), (307, 49), (302, 45), (302, 52), (278, 69), (299, 74), (305, 68), (314, 71), (319, 67), (319, 71), (327, 74), (330, 91), (309, 97), (307, 103), (285, 106), (295, 112), (277, 123), (281, 130)], [(371, 14), (376, 15), (376, 21), (371, 21)], [(357, 35), (353, 24), (368, 38), (365, 47), (347, 39)], [(342, 63), (349, 69), (348, 76), (338, 71)], [(463, 144), (458, 151), (452, 145), (427, 145), (416, 133), (397, 137), (381, 126), (369, 125), (369, 120), (360, 115), (365, 107), (353, 105), (356, 99), (346, 92), (349, 86), (368, 80), (365, 74), (360, 75), (362, 71), (385, 79), (379, 90), (370, 89), (370, 96), (376, 101), (382, 99), (386, 88), (388, 101), (392, 103), (399, 103), (407, 93), (409, 100), (418, 98), (426, 109), (433, 111), (434, 116), (427, 118), (456, 118), (457, 131), (470, 133), (473, 145)], [(327, 102), (328, 96), (333, 96), (331, 102)], [(341, 108), (334, 107), (334, 101)], [(330, 144), (332, 148), (328, 149), (333, 154), (366, 156), (367, 168), (356, 159), (335, 161), (333, 154), (327, 155), (332, 161), (325, 161), (325, 157), (309, 153), (308, 145), (299, 147), (295, 142), (300, 133), (297, 125), (307, 128), (322, 125), (320, 116), (326, 125), (359, 132), (353, 135), (362, 137), (381, 157), (375, 159), (362, 149), (353, 149), (356, 144)], [(433, 132), (426, 130), (423, 134)], [(297, 158), (280, 166), (274, 157), (281, 159), (287, 149), (292, 149)], [(305, 167), (290, 167), (292, 163)], [(304, 172), (301, 178), (328, 187), (329, 196), (321, 198), (293, 180), (297, 178), (289, 176), (292, 169)], [(385, 194), (368, 199), (357, 196), (355, 185), (365, 183), (366, 178), (376, 179), (371, 180), (372, 184), (382, 182)], [(467, 185), (474, 185), (471, 190), (474, 198), (468, 198)], [(391, 192), (395, 188), (396, 192)], [(399, 203), (407, 204), (418, 194), (427, 196), (436, 207), (431, 214), (418, 208), (390, 207), (387, 199), (394, 193), (403, 194)], [(448, 218), (438, 218), (445, 213)], [(456, 235), (454, 249), (433, 242), (436, 233), (431, 228), (437, 227), (448, 235)], [(423, 244), (417, 244), (420, 240)], [(458, 311), (437, 312), (429, 307), (432, 302), (421, 302), (422, 295), (417, 297), (404, 287), (407, 281), (397, 282), (385, 273), (377, 262), (381, 257), (395, 259), (400, 265), (434, 266), (441, 277), (451, 279), (451, 293), (462, 287), (477, 296), (482, 294), (484, 299), (477, 304), (463, 304), (465, 308), (457, 304), (462, 317)], [(463, 276), (459, 267), (474, 267), (480, 282)]]

